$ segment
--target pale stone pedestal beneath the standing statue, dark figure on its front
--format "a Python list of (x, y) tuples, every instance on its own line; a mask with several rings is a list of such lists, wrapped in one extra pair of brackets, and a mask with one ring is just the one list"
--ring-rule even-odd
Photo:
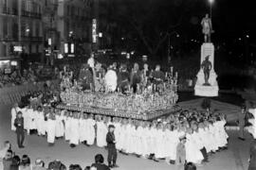
[[(202, 69), (197, 74), (197, 80), (194, 86), (194, 94), (199, 96), (218, 96), (219, 86), (216, 80), (217, 75), (214, 71), (214, 46), (212, 43), (203, 43), (201, 46), (201, 64), (207, 56), (210, 56), (212, 68), (210, 71), (209, 83), (210, 85), (204, 85), (205, 75)], [(200, 64), (200, 65), (201, 65)]]

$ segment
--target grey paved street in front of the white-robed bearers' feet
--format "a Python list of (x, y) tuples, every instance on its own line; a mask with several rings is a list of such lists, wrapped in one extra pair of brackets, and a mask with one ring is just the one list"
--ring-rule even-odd
[[(199, 170), (246, 170), (248, 159), (248, 144), (251, 137), (247, 134), (247, 141), (237, 140), (235, 131), (229, 131), (229, 149), (210, 156), (210, 162)], [(87, 147), (79, 145), (71, 149), (64, 140), (58, 140), (53, 147), (48, 147), (46, 138), (37, 135), (26, 136), (26, 148), (18, 149), (16, 145), (15, 133), (10, 130), (10, 106), (0, 106), (0, 143), (9, 140), (13, 144), (13, 150), (16, 154), (28, 154), (32, 161), (36, 158), (42, 158), (46, 161), (58, 159), (64, 161), (64, 164), (79, 163), (84, 168), (94, 161), (97, 153), (102, 153), (106, 158), (106, 150), (97, 146)], [(135, 156), (123, 156), (119, 154), (119, 169), (121, 170), (170, 170), (177, 169), (174, 165), (168, 165), (164, 161), (148, 161)]]

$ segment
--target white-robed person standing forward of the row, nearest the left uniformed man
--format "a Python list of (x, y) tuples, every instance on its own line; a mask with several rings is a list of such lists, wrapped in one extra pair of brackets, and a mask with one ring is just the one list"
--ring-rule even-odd
[(56, 118), (52, 110), (47, 114), (47, 143), (49, 146), (55, 142)]

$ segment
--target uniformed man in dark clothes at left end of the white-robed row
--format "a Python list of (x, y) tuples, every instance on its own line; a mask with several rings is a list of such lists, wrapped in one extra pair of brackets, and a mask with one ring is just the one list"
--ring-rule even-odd
[(17, 143), (19, 148), (23, 148), (24, 140), (25, 140), (25, 132), (24, 132), (24, 118), (22, 117), (22, 112), (19, 111), (17, 113), (17, 118), (14, 120), (14, 126), (16, 127), (17, 133)]

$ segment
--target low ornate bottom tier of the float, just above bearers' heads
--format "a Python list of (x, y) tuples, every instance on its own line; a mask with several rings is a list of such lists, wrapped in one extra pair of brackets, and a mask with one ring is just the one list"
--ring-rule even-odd
[(71, 110), (71, 111), (83, 111), (87, 113), (114, 116), (114, 117), (123, 117), (123, 118), (132, 118), (137, 120), (151, 121), (155, 120), (161, 116), (174, 113), (175, 111), (180, 110), (178, 106), (174, 106), (167, 110), (149, 110), (143, 113), (130, 112), (129, 110), (107, 110), (101, 108), (92, 108), (92, 107), (79, 107), (76, 105), (67, 106), (60, 104), (57, 106), (61, 110)]

